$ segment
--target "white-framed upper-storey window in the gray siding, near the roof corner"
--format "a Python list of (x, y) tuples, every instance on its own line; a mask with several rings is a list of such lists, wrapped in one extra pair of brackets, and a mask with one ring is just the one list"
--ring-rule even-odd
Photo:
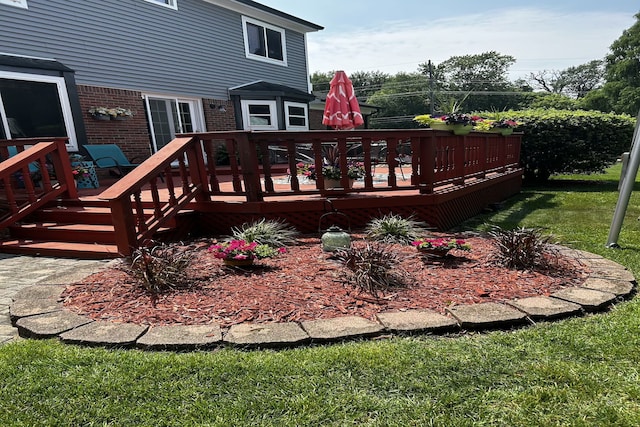
[(243, 16), (242, 31), (247, 58), (287, 65), (284, 29)]

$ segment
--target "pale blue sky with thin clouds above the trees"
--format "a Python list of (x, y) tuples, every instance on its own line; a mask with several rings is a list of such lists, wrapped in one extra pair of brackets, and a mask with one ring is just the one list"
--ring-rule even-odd
[(637, 0), (258, 0), (324, 27), (308, 33), (309, 70), (417, 72), (452, 56), (516, 58), (512, 79), (602, 59), (640, 12)]

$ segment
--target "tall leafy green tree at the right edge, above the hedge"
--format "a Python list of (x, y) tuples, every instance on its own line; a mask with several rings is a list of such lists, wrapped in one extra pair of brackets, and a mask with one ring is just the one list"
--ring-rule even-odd
[(585, 107), (634, 116), (640, 110), (640, 13), (635, 18), (611, 45), (605, 58), (606, 83), (598, 93), (589, 94)]

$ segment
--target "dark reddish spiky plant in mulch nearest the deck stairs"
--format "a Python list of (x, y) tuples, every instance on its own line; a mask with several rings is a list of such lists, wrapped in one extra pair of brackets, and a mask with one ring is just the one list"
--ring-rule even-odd
[(157, 244), (134, 250), (127, 270), (147, 291), (158, 294), (190, 285), (184, 271), (192, 258), (191, 248)]

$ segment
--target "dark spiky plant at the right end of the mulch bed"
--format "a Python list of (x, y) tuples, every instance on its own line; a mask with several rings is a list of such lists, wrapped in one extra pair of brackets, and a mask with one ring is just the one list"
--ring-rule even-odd
[(489, 236), (498, 249), (495, 260), (507, 268), (547, 268), (558, 259), (558, 251), (551, 245), (552, 236), (543, 235), (541, 228), (504, 230), (493, 226)]

